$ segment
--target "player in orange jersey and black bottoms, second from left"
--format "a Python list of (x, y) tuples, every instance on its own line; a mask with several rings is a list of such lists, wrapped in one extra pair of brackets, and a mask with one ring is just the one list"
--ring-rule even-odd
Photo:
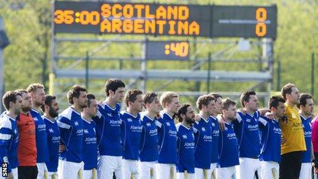
[(32, 115), (29, 111), (32, 109), (32, 101), (26, 90), (20, 89), (22, 105), (16, 124), (19, 129), (18, 159), (19, 178), (36, 178), (38, 168), (36, 167), (36, 127)]

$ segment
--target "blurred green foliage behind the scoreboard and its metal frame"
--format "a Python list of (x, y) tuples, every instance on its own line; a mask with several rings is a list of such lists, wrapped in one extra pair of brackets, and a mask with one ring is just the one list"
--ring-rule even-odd
[[(154, 1), (137, 1), (151, 3)], [(273, 89), (280, 89), (283, 84), (292, 82), (296, 84), (299, 91), (310, 93), (310, 58), (311, 53), (318, 55), (318, 40), (316, 30), (318, 27), (318, 3), (315, 0), (275, 0), (275, 1), (252, 1), (252, 0), (232, 0), (232, 1), (208, 1), (208, 0), (162, 0), (157, 3), (196, 3), (201, 5), (208, 4), (228, 4), (228, 5), (271, 5), (276, 3), (278, 6), (278, 38), (274, 44), (274, 79)], [(10, 38), (11, 44), (5, 49), (5, 88), (12, 90), (15, 88), (25, 88), (32, 82), (44, 82), (48, 85), (48, 74), (51, 71), (51, 1), (48, 0), (5, 0), (0, 1), (0, 16), (5, 22), (5, 29)], [(67, 37), (92, 37), (99, 35), (92, 34), (59, 34)], [(102, 38), (117, 38), (116, 35), (100, 36)], [(143, 36), (125, 36), (124, 38), (143, 39)], [(175, 37), (149, 37), (149, 39), (175, 39)], [(178, 39), (187, 39), (180, 38)], [(193, 39), (193, 38), (192, 38)], [(199, 39), (199, 38), (198, 38)], [(224, 38), (229, 40), (230, 38)], [(232, 38), (231, 38), (232, 39)], [(236, 39), (234, 39), (236, 40)], [(252, 42), (258, 42), (258, 39), (250, 39)], [(116, 57), (138, 58), (141, 56), (140, 44), (111, 44), (92, 54), (92, 51), (99, 49), (103, 43), (61, 43), (56, 52), (68, 56), (85, 57), (89, 53), (90, 69), (140, 69), (140, 62), (130, 61), (120, 63)], [(200, 45), (196, 49), (200, 51), (195, 56), (195, 47), (191, 46), (191, 60), (188, 62), (168, 62), (163, 60), (147, 62), (149, 69), (189, 69), (195, 64), (197, 58), (207, 58), (208, 53), (217, 53), (225, 45)], [(233, 49), (235, 51), (235, 49)], [(257, 58), (261, 54), (260, 49), (253, 48), (248, 52), (225, 53), (231, 58)], [(94, 60), (94, 56), (114, 57), (114, 60), (101, 62)], [(317, 58), (317, 56), (316, 56)], [(84, 58), (83, 58), (84, 59)], [(280, 71), (280, 84), (277, 78), (277, 62), (280, 61), (282, 68)], [(317, 59), (316, 59), (317, 61)], [(84, 69), (84, 60), (76, 62), (75, 60), (59, 60), (57, 67), (68, 67), (74, 65), (73, 69)], [(315, 64), (317, 67), (317, 62)], [(44, 68), (44, 69), (43, 69)], [(213, 62), (212, 70), (237, 70), (249, 71), (251, 69), (265, 69), (264, 63), (239, 63), (239, 62)], [(204, 64), (199, 69), (208, 69), (208, 64)], [(317, 73), (315, 73), (315, 86), (318, 85)], [(69, 86), (79, 83), (85, 84), (85, 80), (78, 79), (58, 79), (56, 82), (56, 94), (61, 97)], [(129, 83), (129, 81), (126, 81)], [(147, 91), (154, 91), (165, 81), (148, 81)], [(99, 98), (103, 98), (104, 80), (90, 79), (88, 88), (90, 93), (98, 93)], [(243, 91), (250, 88), (251, 82), (212, 82), (210, 91)], [(132, 86), (139, 88), (139, 84)], [(161, 91), (206, 91), (206, 82), (197, 84), (196, 82), (176, 81), (163, 88)], [(258, 91), (267, 90), (267, 86), (256, 88)], [(315, 99), (318, 98), (318, 89), (315, 89)], [(190, 101), (195, 103), (195, 97), (182, 98), (182, 102)]]

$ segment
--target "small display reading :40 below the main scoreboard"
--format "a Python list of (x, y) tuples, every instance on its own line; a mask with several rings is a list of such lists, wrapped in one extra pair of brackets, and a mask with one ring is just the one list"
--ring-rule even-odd
[(186, 41), (147, 41), (148, 60), (188, 60), (189, 43)]

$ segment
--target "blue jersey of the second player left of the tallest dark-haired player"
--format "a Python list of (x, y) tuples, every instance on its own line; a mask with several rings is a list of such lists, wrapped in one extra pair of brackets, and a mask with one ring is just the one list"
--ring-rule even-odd
[(72, 107), (66, 108), (58, 116), (61, 143), (66, 149), (60, 153), (60, 160), (81, 163), (83, 160), (83, 120)]

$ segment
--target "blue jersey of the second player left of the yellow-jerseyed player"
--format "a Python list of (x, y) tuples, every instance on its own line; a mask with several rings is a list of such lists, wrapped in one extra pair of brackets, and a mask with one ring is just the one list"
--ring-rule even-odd
[(236, 120), (233, 121), (234, 131), (238, 140), (240, 157), (258, 158), (260, 155), (260, 133), (258, 131), (258, 118), (260, 112), (254, 115), (237, 112)]

